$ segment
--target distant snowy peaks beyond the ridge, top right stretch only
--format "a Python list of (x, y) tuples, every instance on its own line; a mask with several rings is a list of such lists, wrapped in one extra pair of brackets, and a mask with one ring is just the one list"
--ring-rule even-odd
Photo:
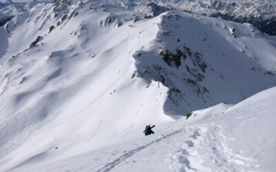
[[(154, 13), (148, 12), (160, 8), (170, 8), (177, 10), (186, 10), (196, 14), (202, 14), (210, 17), (219, 17), (222, 19), (236, 21), (239, 23), (251, 23), (259, 30), (270, 35), (276, 35), (276, 1), (251, 0), (251, 1), (228, 1), (228, 0), (187, 0), (187, 1), (160, 1), (160, 0), (132, 0), (117, 1), (103, 0), (112, 4), (121, 4), (124, 8), (134, 8), (148, 15)], [(159, 6), (159, 8), (152, 8)], [(139, 7), (139, 8), (138, 8)], [(141, 10), (145, 9), (145, 10)]]

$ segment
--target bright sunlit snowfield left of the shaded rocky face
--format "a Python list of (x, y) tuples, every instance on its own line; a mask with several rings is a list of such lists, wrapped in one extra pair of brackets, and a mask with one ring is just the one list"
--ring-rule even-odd
[[(40, 16), (45, 9), (47, 12)], [(117, 142), (117, 137), (150, 121), (172, 120), (162, 111), (168, 89), (158, 83), (146, 89), (144, 80), (131, 78), (135, 71), (131, 54), (143, 45), (150, 47), (158, 18), (128, 32), (127, 24), (120, 30), (116, 25), (113, 28), (114, 23), (100, 27), (109, 13), (86, 6), (79, 11), (81, 19), (72, 18), (71, 24), (48, 34), (53, 23), (45, 19), (55, 15), (52, 7), (41, 5), (34, 10), (7, 24), (12, 37), (7, 39), (10, 46), (1, 58), (2, 171), (57, 144), (67, 144), (68, 149), (60, 149), (59, 157), (55, 155), (64, 158), (110, 144), (109, 138)], [(133, 13), (120, 13), (117, 15), (132, 19)], [(13, 22), (23, 25), (12, 28)], [(137, 37), (141, 30), (144, 34)], [(1, 33), (11, 35), (4, 27)], [(37, 36), (44, 34), (38, 45), (29, 48)], [(21, 54), (12, 57), (10, 54), (16, 55), (16, 51)]]

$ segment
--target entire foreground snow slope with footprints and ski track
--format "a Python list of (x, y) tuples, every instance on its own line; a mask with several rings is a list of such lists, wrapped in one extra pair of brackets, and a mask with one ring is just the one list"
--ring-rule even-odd
[(12, 171), (274, 171), (275, 102), (273, 87), (237, 105), (194, 111), (152, 136), (57, 162), (50, 160), (59, 149), (51, 149)]

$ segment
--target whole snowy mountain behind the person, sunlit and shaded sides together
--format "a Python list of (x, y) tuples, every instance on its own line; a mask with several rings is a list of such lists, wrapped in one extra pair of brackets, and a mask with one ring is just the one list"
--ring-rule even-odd
[(62, 0), (0, 28), (0, 171), (130, 142), (150, 122), (275, 85), (274, 36), (188, 12), (144, 18)]

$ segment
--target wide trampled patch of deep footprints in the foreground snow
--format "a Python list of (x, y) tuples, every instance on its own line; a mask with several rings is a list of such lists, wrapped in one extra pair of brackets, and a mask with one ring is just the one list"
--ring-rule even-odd
[[(177, 154), (179, 162), (183, 164), (179, 171), (244, 171), (256, 167), (248, 165), (255, 162), (254, 160), (235, 154), (227, 147), (226, 142), (230, 139), (222, 135), (219, 125), (195, 127), (190, 130), (193, 130), (193, 134), (188, 136), (190, 140), (186, 140), (184, 149)], [(212, 161), (210, 164), (219, 168), (204, 167), (206, 158)], [(199, 166), (201, 169), (198, 169)]]

